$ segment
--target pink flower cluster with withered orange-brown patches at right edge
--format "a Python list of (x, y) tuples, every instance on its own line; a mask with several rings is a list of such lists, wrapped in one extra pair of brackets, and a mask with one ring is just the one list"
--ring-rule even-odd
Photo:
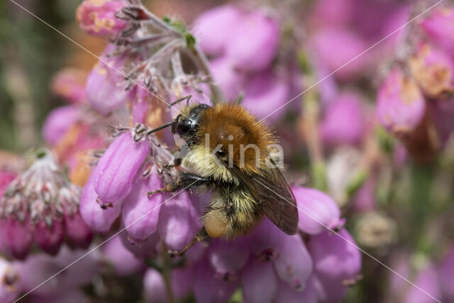
[(452, 39), (444, 33), (452, 16), (452, 10), (436, 10), (421, 22), (424, 35), (402, 42), (411, 51), (378, 92), (377, 119), (419, 162), (432, 160), (453, 131), (444, 123), (453, 108), (454, 59), (447, 42)]

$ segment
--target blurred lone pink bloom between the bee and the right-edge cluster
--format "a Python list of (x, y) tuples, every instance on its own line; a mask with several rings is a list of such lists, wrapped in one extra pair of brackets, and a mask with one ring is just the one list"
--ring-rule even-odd
[(354, 92), (339, 95), (328, 105), (323, 121), (321, 136), (328, 145), (357, 145), (365, 135), (365, 113), (362, 99)]

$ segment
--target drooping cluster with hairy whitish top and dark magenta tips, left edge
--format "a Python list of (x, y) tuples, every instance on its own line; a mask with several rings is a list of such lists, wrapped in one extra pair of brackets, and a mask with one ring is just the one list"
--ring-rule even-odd
[(65, 230), (65, 216), (77, 215), (79, 197), (79, 188), (65, 179), (50, 152), (38, 152), (38, 159), (9, 184), (0, 200), (1, 239), (6, 250), (24, 259), (34, 239), (46, 253), (56, 255), (65, 236), (75, 246), (87, 246), (91, 236), (82, 221), (84, 241)]

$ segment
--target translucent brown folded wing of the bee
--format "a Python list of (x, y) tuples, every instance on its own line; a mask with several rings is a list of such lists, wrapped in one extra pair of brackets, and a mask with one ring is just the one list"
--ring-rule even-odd
[[(275, 163), (273, 162), (275, 165)], [(298, 231), (298, 211), (292, 189), (282, 172), (275, 165), (262, 175), (247, 175), (238, 167), (234, 174), (245, 184), (254, 199), (262, 206), (263, 213), (287, 235)]]

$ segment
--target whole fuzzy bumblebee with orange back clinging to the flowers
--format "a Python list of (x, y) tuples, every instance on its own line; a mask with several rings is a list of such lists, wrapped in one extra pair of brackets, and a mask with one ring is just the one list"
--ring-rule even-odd
[(276, 138), (243, 106), (188, 104), (166, 126), (172, 126), (175, 143), (184, 145), (175, 163), (185, 170), (155, 192), (208, 189), (212, 193), (201, 218), (204, 228), (194, 243), (206, 235), (244, 235), (263, 216), (284, 233), (297, 233), (294, 194), (270, 148)]

